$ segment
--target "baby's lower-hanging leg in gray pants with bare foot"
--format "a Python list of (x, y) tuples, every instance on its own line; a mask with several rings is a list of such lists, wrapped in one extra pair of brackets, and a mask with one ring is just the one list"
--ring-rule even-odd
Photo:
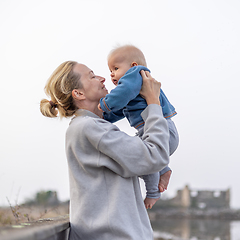
[(153, 173), (149, 175), (142, 176), (145, 186), (146, 186), (146, 198), (144, 200), (144, 204), (146, 209), (152, 208), (152, 206), (157, 202), (160, 198), (160, 191), (158, 188), (159, 183), (159, 173)]

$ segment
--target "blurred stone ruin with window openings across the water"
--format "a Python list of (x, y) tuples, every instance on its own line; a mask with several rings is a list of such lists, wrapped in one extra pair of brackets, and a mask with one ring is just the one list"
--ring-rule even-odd
[(177, 191), (174, 198), (162, 200), (155, 204), (156, 207), (181, 207), (181, 208), (230, 208), (230, 189), (225, 191), (192, 190), (186, 185)]

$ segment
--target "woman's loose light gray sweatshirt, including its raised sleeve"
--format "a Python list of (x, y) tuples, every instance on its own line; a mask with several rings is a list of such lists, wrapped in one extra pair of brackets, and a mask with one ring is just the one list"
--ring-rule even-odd
[(142, 139), (79, 109), (66, 133), (70, 179), (70, 240), (152, 240), (138, 176), (169, 163), (162, 109), (143, 112)]

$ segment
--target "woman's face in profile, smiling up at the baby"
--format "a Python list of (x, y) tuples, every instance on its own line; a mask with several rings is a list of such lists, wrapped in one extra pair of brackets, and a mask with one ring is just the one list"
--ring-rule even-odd
[(105, 88), (105, 78), (97, 76), (94, 72), (83, 64), (76, 64), (73, 71), (81, 76), (81, 83), (86, 99), (96, 101), (97, 103), (102, 97), (105, 97), (108, 90)]

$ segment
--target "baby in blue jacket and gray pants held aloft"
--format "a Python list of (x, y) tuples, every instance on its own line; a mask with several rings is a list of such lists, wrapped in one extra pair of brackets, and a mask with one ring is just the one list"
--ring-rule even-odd
[[(144, 121), (141, 112), (147, 107), (146, 101), (139, 95), (142, 87), (141, 70), (149, 71), (143, 53), (132, 45), (125, 45), (112, 50), (108, 57), (111, 80), (116, 88), (102, 98), (99, 109), (103, 111), (104, 119), (116, 122), (126, 117), (132, 127), (138, 130), (138, 136), (143, 134)], [(177, 149), (179, 138), (175, 124), (171, 120), (177, 113), (161, 90), (160, 103), (163, 116), (169, 127), (169, 155)], [(152, 208), (160, 198), (160, 192), (167, 189), (171, 175), (169, 167), (159, 173), (141, 176), (146, 186), (146, 208)]]

